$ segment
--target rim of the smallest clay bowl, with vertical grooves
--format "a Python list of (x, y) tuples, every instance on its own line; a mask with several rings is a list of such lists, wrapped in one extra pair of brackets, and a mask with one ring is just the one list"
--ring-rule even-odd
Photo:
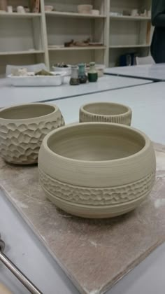
[[(84, 109), (85, 106), (88, 105), (94, 105), (94, 104), (108, 104), (108, 105), (117, 105), (117, 106), (122, 106), (125, 109), (127, 109), (126, 112), (120, 113), (120, 114), (99, 114), (99, 113), (93, 113), (93, 112), (89, 112), (86, 111)], [(92, 116), (102, 116), (103, 118), (115, 118), (115, 117), (120, 117), (120, 116), (126, 116), (129, 115), (129, 113), (132, 113), (131, 108), (127, 105), (124, 104), (120, 104), (120, 103), (113, 103), (113, 102), (92, 102), (92, 103), (87, 103), (87, 104), (83, 104), (82, 106), (80, 106), (80, 111), (82, 111), (82, 113), (86, 113), (87, 115), (92, 115)]]

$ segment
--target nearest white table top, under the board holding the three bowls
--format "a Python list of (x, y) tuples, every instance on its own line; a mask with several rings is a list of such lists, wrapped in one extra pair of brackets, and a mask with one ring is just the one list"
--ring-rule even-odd
[[(153, 141), (165, 144), (164, 91), (165, 83), (152, 83), (141, 87), (58, 100), (55, 104), (61, 109), (66, 123), (78, 121), (79, 107), (87, 102), (109, 101), (127, 104), (133, 110), (132, 125), (143, 130)], [(22, 270), (25, 269), (25, 274), (43, 290), (43, 293), (55, 293), (55, 289), (59, 294), (78, 293), (31, 230), (21, 221), (20, 216), (11, 209), (10, 204), (8, 207), (6, 204), (7, 201), (0, 197), (1, 234), (6, 239), (6, 243), (11, 246), (8, 247), (8, 256), (17, 262)], [(15, 248), (15, 245), (18, 247)], [(2, 270), (1, 267), (0, 270), (0, 281), (8, 284), (11, 290), (15, 289), (14, 293), (27, 293), (25, 290), (22, 291), (20, 284), (8, 274), (6, 269)], [(164, 272), (165, 244), (145, 258), (140, 265), (110, 289), (108, 294), (164, 294)]]

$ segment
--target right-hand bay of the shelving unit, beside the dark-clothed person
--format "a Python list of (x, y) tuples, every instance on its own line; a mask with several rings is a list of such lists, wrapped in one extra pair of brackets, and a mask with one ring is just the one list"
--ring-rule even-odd
[[(151, 0), (110, 0), (110, 13), (150, 10)], [(152, 27), (148, 16), (110, 15), (109, 66), (120, 65), (120, 55), (148, 55)]]

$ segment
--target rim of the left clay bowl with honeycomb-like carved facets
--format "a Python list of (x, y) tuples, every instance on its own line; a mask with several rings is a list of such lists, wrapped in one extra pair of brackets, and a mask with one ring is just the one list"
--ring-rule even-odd
[[(54, 111), (45, 114), (45, 116), (34, 116), (33, 118), (1, 118), (1, 113), (3, 111), (6, 111), (8, 109), (14, 109), (17, 107), (22, 107), (22, 106), (33, 106), (33, 105), (37, 105), (37, 106), (52, 106), (54, 108)], [(26, 104), (13, 104), (11, 106), (7, 106), (7, 107), (3, 107), (2, 109), (0, 109), (0, 122), (11, 122), (11, 123), (27, 123), (30, 122), (32, 120), (40, 120), (41, 118), (47, 118), (50, 115), (55, 114), (57, 111), (59, 111), (59, 108), (56, 104), (48, 104), (48, 103), (36, 103), (36, 102), (32, 102), (32, 103), (26, 103)]]

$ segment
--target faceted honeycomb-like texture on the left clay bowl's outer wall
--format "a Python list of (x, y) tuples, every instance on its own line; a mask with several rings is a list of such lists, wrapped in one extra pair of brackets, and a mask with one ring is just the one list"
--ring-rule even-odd
[[(48, 119), (49, 120), (49, 119)], [(64, 125), (61, 113), (50, 121), (16, 125), (0, 123), (1, 158), (15, 164), (32, 164), (38, 160), (38, 151), (46, 134)]]

